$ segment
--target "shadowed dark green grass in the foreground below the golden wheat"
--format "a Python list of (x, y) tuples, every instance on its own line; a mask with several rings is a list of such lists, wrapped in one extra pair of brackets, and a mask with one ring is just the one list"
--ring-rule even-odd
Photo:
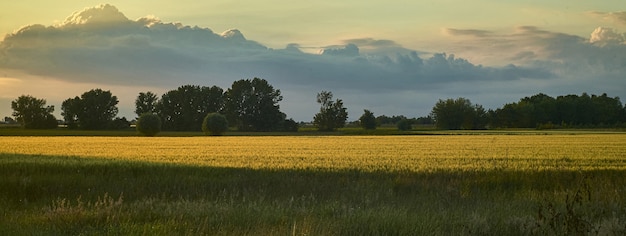
[(252, 170), (0, 154), (1, 235), (623, 235), (623, 171)]

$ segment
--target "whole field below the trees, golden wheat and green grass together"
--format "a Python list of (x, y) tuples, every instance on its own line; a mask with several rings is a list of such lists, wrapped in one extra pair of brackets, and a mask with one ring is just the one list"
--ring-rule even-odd
[(626, 233), (626, 134), (0, 137), (0, 234)]

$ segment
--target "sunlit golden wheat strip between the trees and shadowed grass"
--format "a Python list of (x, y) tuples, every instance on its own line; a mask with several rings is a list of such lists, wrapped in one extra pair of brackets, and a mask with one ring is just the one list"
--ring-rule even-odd
[(0, 153), (252, 169), (626, 169), (626, 135), (0, 137)]

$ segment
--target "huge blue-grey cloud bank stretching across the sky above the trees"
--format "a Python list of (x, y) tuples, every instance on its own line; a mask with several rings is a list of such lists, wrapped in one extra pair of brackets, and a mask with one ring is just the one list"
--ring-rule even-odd
[[(403, 110), (408, 116), (426, 115), (437, 99), (447, 97), (468, 97), (486, 107), (538, 92), (626, 97), (611, 93), (623, 93), (620, 88), (626, 87), (626, 48), (599, 44), (615, 36), (610, 33), (619, 34), (614, 30), (601, 30), (594, 42), (532, 26), (509, 33), (453, 28), (444, 33), (458, 45), (451, 52), (354, 38), (320, 46), (321, 52), (312, 54), (297, 43), (268, 48), (236, 29), (215, 33), (155, 16), (131, 20), (111, 5), (100, 5), (73, 13), (58, 25), (31, 25), (7, 35), (0, 42), (0, 76), (29, 84), (22, 91), (50, 89), (33, 82), (41, 80), (124, 88), (128, 101), (120, 101), (120, 109), (131, 112), (133, 88), (136, 93), (184, 84), (228, 88), (235, 80), (260, 77), (283, 91), (281, 107), (297, 120), (311, 119), (321, 90), (344, 99), (351, 113), (377, 108), (376, 114)], [(84, 92), (73, 91), (54, 93), (59, 97), (50, 100)], [(3, 87), (0, 94), (21, 95)]]

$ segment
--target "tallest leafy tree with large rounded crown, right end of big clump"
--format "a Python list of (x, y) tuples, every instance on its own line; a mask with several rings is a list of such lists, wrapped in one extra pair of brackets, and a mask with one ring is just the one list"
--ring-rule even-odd
[(280, 90), (267, 80), (238, 80), (226, 91), (226, 114), (239, 130), (277, 130), (285, 120), (278, 105), (282, 100)]

